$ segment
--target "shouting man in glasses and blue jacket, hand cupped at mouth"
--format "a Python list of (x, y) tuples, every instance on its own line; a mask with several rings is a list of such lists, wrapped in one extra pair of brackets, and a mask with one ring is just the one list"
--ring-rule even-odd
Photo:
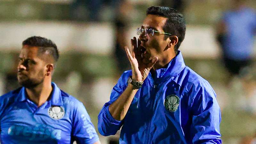
[(183, 16), (149, 7), (132, 47), (132, 70), (114, 86), (99, 114), (98, 129), (120, 143), (220, 144), (220, 107), (211, 85), (185, 66), (178, 50), (185, 37)]

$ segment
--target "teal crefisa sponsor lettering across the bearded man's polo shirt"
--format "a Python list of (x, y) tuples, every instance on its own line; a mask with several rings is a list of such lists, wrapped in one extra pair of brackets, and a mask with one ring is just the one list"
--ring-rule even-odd
[(28, 140), (61, 139), (61, 130), (50, 129), (49, 127), (46, 127), (46, 125), (42, 124), (37, 124), (34, 127), (13, 125), (9, 127), (8, 134), (12, 136), (27, 137)]

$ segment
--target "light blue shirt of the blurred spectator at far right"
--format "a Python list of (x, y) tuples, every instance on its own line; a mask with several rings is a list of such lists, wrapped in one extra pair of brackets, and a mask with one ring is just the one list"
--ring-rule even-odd
[(248, 60), (253, 54), (256, 32), (256, 13), (249, 8), (224, 13), (226, 38), (224, 56), (231, 60)]

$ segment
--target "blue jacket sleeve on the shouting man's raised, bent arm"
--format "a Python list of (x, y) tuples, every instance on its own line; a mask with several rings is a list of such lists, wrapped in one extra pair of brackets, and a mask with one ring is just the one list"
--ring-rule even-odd
[(124, 72), (124, 74), (119, 78), (117, 84), (112, 89), (110, 100), (104, 104), (100, 111), (98, 116), (98, 130), (103, 136), (115, 135), (123, 125), (122, 121), (118, 121), (112, 117), (108, 108), (109, 105), (112, 104), (124, 92), (125, 88), (127, 87), (127, 79), (127, 72)]

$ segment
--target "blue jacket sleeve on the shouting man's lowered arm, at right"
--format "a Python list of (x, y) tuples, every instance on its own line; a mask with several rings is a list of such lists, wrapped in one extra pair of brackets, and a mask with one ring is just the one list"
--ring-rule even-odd
[(193, 92), (190, 139), (193, 144), (221, 144), (221, 116), (216, 93), (208, 82), (203, 85)]

